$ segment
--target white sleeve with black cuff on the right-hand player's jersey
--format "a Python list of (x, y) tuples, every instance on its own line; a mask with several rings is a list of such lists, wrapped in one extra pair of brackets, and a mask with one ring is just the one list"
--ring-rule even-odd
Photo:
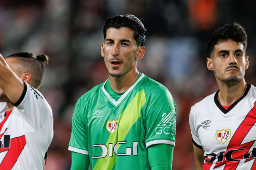
[(198, 135), (198, 128), (196, 124), (196, 116), (195, 116), (195, 110), (193, 107), (191, 107), (190, 113), (189, 113), (189, 126), (192, 134), (193, 143), (198, 148), (202, 149), (202, 144)]

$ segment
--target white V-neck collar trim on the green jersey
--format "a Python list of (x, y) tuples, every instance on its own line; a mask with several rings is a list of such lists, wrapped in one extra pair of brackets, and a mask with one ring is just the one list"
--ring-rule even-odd
[(121, 97), (118, 99), (118, 101), (116, 101), (116, 100), (114, 100), (110, 95), (109, 95), (109, 93), (106, 91), (106, 89), (104, 88), (104, 86), (105, 86), (105, 84), (106, 84), (106, 82), (107, 82), (107, 80), (104, 82), (104, 84), (103, 84), (103, 86), (102, 86), (102, 91), (103, 91), (103, 93), (107, 96), (107, 98), (111, 101), (111, 103), (112, 104), (114, 104), (115, 106), (117, 106), (118, 104), (120, 104), (122, 101), (123, 101), (123, 99), (125, 99), (125, 97), (131, 92), (131, 90), (140, 82), (140, 80), (142, 80), (142, 78), (144, 77), (145, 75), (142, 73), (142, 75), (138, 78), (138, 80), (135, 82), (135, 83), (133, 83), (133, 85), (130, 87), (130, 88), (128, 88), (128, 90), (126, 90), (126, 92), (125, 93), (123, 93), (123, 95), (121, 95)]

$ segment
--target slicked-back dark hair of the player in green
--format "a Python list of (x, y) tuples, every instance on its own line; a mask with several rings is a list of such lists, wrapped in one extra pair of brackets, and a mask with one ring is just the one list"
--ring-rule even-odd
[(110, 27), (119, 29), (121, 27), (128, 27), (134, 31), (134, 39), (137, 42), (137, 46), (144, 46), (146, 41), (147, 30), (142, 24), (141, 20), (131, 14), (127, 15), (116, 15), (109, 17), (103, 28), (104, 39), (106, 39), (107, 29)]

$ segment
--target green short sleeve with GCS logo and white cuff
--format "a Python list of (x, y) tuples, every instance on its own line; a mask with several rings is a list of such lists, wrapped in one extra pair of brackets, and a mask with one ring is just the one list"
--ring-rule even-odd
[(175, 146), (176, 105), (171, 93), (165, 87), (159, 87), (146, 98), (146, 147), (156, 144)]

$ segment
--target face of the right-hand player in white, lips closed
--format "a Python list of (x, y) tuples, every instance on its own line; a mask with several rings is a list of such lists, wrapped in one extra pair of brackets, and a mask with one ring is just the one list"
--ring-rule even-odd
[(249, 67), (244, 45), (231, 39), (219, 41), (213, 48), (207, 67), (221, 82), (240, 82)]

